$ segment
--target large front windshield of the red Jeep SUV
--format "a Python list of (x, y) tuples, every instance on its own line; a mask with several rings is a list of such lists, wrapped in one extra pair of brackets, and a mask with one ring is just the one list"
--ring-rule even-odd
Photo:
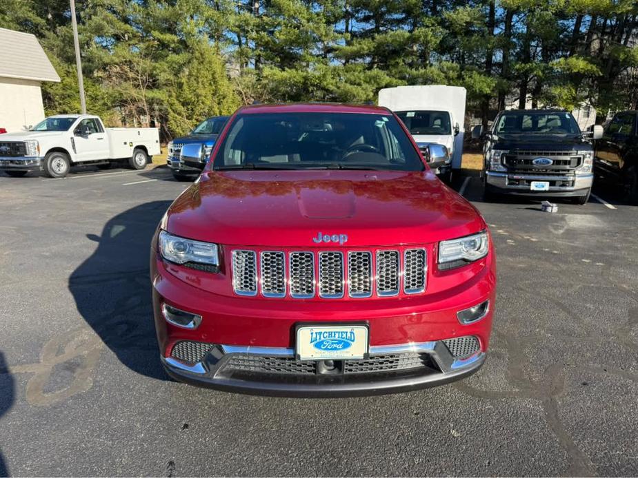
[(215, 169), (423, 170), (394, 116), (357, 113), (239, 115), (213, 164)]

